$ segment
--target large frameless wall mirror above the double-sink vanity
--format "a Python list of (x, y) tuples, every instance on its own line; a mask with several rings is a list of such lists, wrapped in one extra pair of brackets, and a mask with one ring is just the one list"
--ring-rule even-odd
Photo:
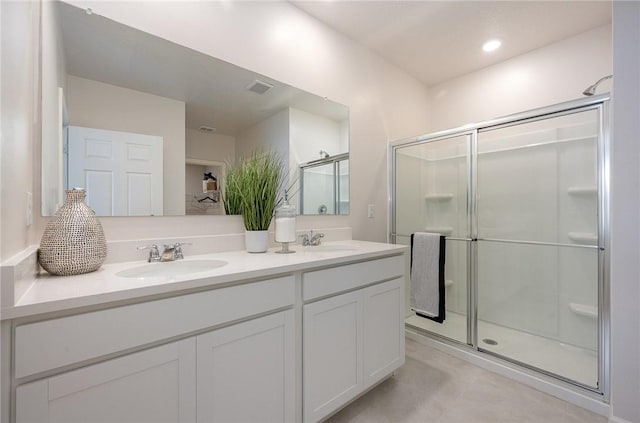
[(348, 214), (346, 106), (63, 2), (42, 48), (44, 216), (72, 187), (101, 216), (223, 214), (225, 164), (254, 149), (302, 213)]

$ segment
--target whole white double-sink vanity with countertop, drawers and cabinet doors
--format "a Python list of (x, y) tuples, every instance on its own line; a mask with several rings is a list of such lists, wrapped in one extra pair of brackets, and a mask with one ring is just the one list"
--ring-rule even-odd
[(40, 275), (2, 310), (3, 410), (17, 423), (325, 419), (404, 363), (406, 247), (297, 247)]

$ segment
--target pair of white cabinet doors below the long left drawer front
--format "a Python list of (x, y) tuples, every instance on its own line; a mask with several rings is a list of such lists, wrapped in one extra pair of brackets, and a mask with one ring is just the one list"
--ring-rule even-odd
[(293, 311), (16, 389), (16, 422), (293, 422)]

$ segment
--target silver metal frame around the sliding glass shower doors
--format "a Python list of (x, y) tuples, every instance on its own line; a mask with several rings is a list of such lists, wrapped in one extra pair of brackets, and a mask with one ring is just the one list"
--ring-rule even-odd
[[(390, 171), (389, 178), (389, 197), (388, 197), (388, 241), (396, 243), (397, 235), (408, 235), (396, 233), (396, 216), (395, 216), (395, 200), (396, 200), (396, 180), (395, 180), (395, 155), (396, 150), (411, 145), (419, 145), (433, 141), (439, 141), (456, 136), (469, 136), (470, 140), (467, 145), (467, 218), (469, 238), (458, 238), (460, 241), (469, 241), (468, 248), (468, 271), (467, 271), (467, 344), (472, 350), (490, 355), (499, 360), (513, 363), (523, 368), (532, 370), (539, 374), (552, 377), (555, 380), (564, 382), (570, 386), (579, 387), (586, 392), (597, 395), (604, 401), (609, 401), (610, 396), (610, 379), (609, 379), (609, 350), (610, 350), (610, 307), (609, 307), (609, 145), (610, 145), (610, 114), (609, 114), (609, 94), (601, 94), (597, 96), (582, 98), (578, 100), (568, 101), (548, 107), (534, 109), (522, 113), (505, 116), (473, 125), (466, 125), (460, 128), (436, 132), (433, 134), (421, 135), (414, 138), (402, 139), (389, 143), (388, 150), (388, 169)], [(597, 387), (587, 386), (577, 381), (565, 378), (555, 373), (547, 372), (531, 365), (508, 357), (493, 354), (483, 350), (478, 346), (478, 273), (477, 273), (477, 241), (478, 241), (478, 208), (477, 208), (477, 155), (478, 155), (478, 134), (481, 131), (494, 130), (523, 123), (530, 123), (552, 117), (560, 117), (564, 115), (579, 113), (587, 110), (598, 111), (598, 139), (597, 139), (597, 213), (598, 213), (598, 244), (597, 246), (579, 246), (574, 244), (554, 243), (554, 246), (571, 246), (580, 248), (596, 248), (598, 250), (598, 362)], [(446, 239), (452, 239), (447, 237)], [(488, 239), (487, 239), (488, 240)], [(493, 240), (492, 241), (501, 241)], [(511, 240), (502, 240), (504, 242), (513, 242)], [(549, 243), (527, 242), (522, 243), (542, 244)], [(452, 345), (463, 345), (460, 342), (446, 338), (437, 333), (429, 331), (421, 331), (429, 336), (435, 336)]]

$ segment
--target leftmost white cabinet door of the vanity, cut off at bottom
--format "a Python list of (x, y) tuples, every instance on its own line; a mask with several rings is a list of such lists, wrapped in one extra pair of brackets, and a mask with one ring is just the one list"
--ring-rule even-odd
[(16, 422), (194, 422), (195, 339), (18, 386)]

